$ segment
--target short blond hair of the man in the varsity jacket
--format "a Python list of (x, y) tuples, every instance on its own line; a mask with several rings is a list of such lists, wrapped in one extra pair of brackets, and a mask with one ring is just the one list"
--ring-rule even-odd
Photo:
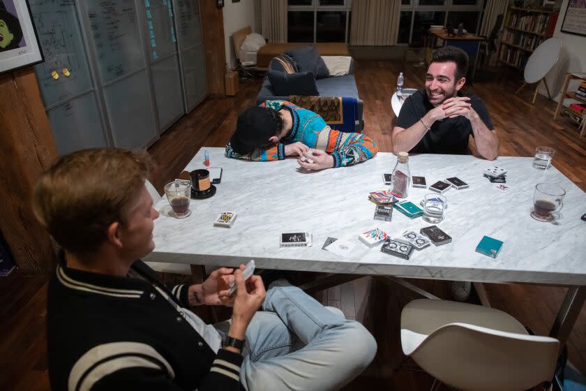
[(59, 158), (40, 178), (33, 212), (67, 251), (95, 251), (112, 223), (125, 222), (129, 202), (144, 186), (152, 167), (144, 150), (73, 152)]

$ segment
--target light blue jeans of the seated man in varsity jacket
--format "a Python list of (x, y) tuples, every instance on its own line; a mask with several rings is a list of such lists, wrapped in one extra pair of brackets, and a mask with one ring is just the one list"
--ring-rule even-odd
[(375, 357), (363, 325), (284, 280), (271, 284), (262, 309), (246, 330), (240, 380), (248, 391), (338, 390)]

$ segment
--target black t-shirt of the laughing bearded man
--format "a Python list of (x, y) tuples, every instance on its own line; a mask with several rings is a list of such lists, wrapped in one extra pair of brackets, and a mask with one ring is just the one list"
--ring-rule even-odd
[[(488, 110), (478, 96), (460, 92), (458, 92), (458, 96), (468, 96), (472, 108), (478, 113), (486, 127), (491, 131), (494, 130), (493, 124), (490, 123)], [(428, 100), (426, 90), (420, 89), (405, 100), (395, 125), (400, 128), (410, 128), (433, 108)], [(426, 125), (429, 126), (429, 124)], [(444, 118), (435, 121), (430, 130), (409, 152), (414, 154), (465, 155), (468, 153), (470, 135), (474, 137), (472, 124), (466, 117), (458, 115), (455, 118)]]

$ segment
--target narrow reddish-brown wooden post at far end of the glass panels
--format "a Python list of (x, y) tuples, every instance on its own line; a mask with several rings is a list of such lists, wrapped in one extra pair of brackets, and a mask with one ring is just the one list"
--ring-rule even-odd
[(216, 0), (200, 1), (200, 16), (202, 17), (209, 93), (223, 97), (225, 96), (226, 68), (224, 16), (222, 8), (218, 8), (217, 3)]

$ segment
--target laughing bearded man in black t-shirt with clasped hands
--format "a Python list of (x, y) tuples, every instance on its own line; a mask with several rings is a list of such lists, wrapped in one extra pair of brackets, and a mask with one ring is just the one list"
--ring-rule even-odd
[(433, 52), (426, 88), (405, 100), (393, 128), (394, 152), (467, 154), (472, 135), (479, 154), (488, 160), (498, 156), (486, 106), (478, 96), (460, 92), (467, 68), (468, 56), (457, 47)]

